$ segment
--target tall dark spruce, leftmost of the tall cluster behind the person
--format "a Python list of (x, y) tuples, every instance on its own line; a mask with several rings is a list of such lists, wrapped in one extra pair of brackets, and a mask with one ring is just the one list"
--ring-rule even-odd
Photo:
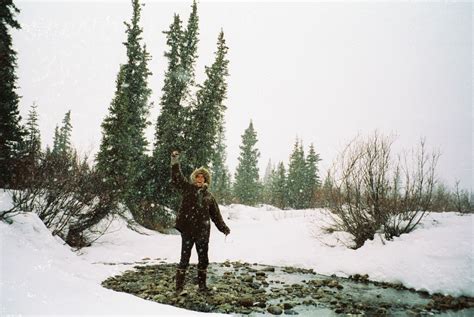
[(148, 99), (148, 69), (150, 55), (142, 45), (143, 33), (140, 27), (141, 5), (132, 0), (133, 14), (126, 26), (127, 62), (120, 66), (116, 81), (116, 92), (109, 114), (102, 123), (103, 136), (97, 155), (97, 167), (104, 175), (109, 189), (119, 193), (134, 217), (143, 222), (139, 215), (143, 186), (147, 140), (145, 129), (149, 124), (147, 116), (150, 105)]

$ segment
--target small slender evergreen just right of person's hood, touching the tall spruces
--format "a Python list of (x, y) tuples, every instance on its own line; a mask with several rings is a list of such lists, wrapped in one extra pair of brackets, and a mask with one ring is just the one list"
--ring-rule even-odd
[(212, 192), (219, 204), (227, 205), (232, 200), (230, 172), (225, 164), (226, 147), (224, 127), (219, 129), (217, 144), (212, 157)]

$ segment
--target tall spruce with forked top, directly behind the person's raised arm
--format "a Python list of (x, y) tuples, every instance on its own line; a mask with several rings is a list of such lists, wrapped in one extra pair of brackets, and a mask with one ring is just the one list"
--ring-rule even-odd
[[(181, 20), (175, 14), (173, 23), (166, 34), (169, 50), (168, 69), (160, 101), (161, 112), (155, 129), (155, 144), (151, 168), (152, 182), (155, 182), (155, 196), (160, 204), (176, 209), (178, 197), (169, 183), (169, 157), (173, 150), (181, 151), (181, 168), (185, 175), (191, 173), (196, 164), (191, 146), (194, 120), (191, 108), (196, 104), (193, 97), (195, 88), (195, 62), (198, 57), (199, 17), (196, 1), (183, 30)], [(199, 142), (199, 141), (198, 141)], [(209, 158), (210, 159), (210, 158)], [(208, 161), (209, 163), (209, 161)]]

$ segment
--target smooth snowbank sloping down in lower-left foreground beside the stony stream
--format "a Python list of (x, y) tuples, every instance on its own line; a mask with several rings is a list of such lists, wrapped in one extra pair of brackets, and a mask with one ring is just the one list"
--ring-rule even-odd
[(1, 316), (197, 314), (103, 288), (102, 278), (119, 269), (108, 266), (104, 270), (103, 265), (77, 256), (52, 237), (34, 214), (18, 215), (14, 220), (12, 225), (0, 223)]

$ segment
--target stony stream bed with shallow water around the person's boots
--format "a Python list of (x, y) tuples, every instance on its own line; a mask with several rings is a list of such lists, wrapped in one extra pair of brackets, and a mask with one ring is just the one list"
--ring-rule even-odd
[(211, 263), (208, 293), (197, 289), (197, 268), (186, 272), (176, 294), (176, 264), (137, 265), (102, 282), (106, 288), (162, 304), (234, 315), (423, 316), (447, 312), (474, 316), (474, 298), (430, 295), (401, 284), (369, 280), (368, 275), (329, 277), (313, 270), (246, 262)]

